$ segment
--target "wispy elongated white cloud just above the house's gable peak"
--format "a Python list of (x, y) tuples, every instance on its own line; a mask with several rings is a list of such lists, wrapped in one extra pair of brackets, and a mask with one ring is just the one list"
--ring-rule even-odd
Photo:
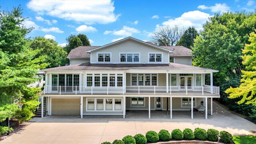
[(114, 35), (118, 35), (118, 36), (132, 36), (133, 33), (140, 33), (139, 30), (137, 30), (136, 28), (130, 28), (128, 26), (123, 26), (122, 30), (114, 30), (114, 31), (109, 31), (106, 30), (103, 34), (114, 34)]

